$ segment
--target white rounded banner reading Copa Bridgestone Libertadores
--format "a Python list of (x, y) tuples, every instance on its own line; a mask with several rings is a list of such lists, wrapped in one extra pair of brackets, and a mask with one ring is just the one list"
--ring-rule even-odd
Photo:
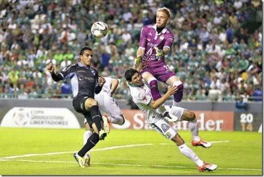
[(80, 124), (67, 108), (13, 107), (0, 127), (80, 128)]

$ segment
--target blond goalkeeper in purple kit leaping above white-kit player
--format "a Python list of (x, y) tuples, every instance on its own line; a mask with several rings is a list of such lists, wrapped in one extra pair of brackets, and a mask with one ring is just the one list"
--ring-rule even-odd
[(169, 53), (174, 41), (173, 33), (166, 27), (166, 24), (170, 22), (170, 17), (171, 12), (168, 8), (159, 8), (156, 24), (142, 27), (134, 68), (137, 68), (140, 62), (146, 63), (146, 67), (140, 72), (140, 75), (149, 84), (154, 100), (161, 98), (157, 80), (169, 86), (177, 86), (178, 91), (173, 95), (173, 105), (177, 105), (183, 97), (183, 84), (169, 69), (164, 57)]

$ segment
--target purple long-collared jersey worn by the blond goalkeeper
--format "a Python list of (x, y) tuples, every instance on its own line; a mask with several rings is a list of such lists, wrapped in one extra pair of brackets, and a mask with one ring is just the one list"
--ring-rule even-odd
[(158, 34), (156, 28), (156, 24), (143, 26), (140, 34), (139, 48), (145, 50), (145, 54), (141, 61), (146, 62), (149, 67), (164, 65), (164, 56), (158, 61), (154, 47), (158, 47), (159, 49), (170, 49), (174, 41), (174, 35), (170, 29), (165, 27)]

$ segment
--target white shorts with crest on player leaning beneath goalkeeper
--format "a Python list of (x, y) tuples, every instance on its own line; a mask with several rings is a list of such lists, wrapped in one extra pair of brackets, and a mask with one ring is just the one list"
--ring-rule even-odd
[(165, 119), (160, 119), (155, 123), (150, 123), (150, 126), (169, 140), (177, 134), (177, 131), (171, 127), (170, 122)]

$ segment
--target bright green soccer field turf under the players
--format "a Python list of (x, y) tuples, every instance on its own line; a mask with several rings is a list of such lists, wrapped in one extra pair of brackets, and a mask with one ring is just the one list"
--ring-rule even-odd
[(209, 149), (193, 147), (191, 132), (179, 131), (204, 161), (218, 165), (199, 172), (178, 147), (154, 130), (110, 131), (91, 151), (91, 167), (80, 168), (73, 153), (84, 129), (0, 128), (0, 175), (262, 175), (262, 134), (209, 132)]

